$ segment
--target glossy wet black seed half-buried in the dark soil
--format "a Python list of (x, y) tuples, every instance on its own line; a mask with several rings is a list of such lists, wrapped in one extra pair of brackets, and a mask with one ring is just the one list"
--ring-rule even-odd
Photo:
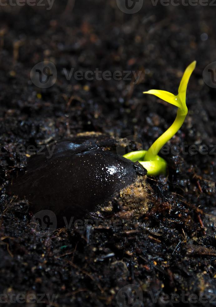
[[(8, 188), (10, 194), (26, 198), (30, 210), (52, 210), (58, 225), (71, 217), (82, 218), (98, 206), (112, 200), (146, 170), (114, 151), (110, 138), (73, 138), (56, 143), (43, 154), (32, 156), (25, 174)], [(49, 150), (48, 150), (49, 149)]]

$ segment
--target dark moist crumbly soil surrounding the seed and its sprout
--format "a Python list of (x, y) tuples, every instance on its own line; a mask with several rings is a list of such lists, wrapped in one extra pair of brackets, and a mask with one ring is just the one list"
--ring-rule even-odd
[[(151, 295), (183, 293), (205, 294), (207, 301), (192, 299), (185, 306), (215, 305), (216, 150), (211, 146), (216, 144), (216, 91), (202, 78), (215, 60), (215, 7), (145, 1), (138, 13), (123, 14), (115, 1), (79, 0), (73, 10), (70, 3), (56, 0), (51, 10), (0, 6), (0, 294), (37, 299), (46, 294), (44, 303), (28, 297), (27, 306), (45, 306), (53, 294), (53, 306), (126, 306), (118, 291), (137, 284), (143, 306), (182, 306), (154, 302)], [(53, 62), (58, 72), (47, 89), (30, 79), (33, 66), (43, 60)], [(113, 200), (110, 211), (97, 216), (99, 225), (72, 225), (50, 236), (35, 232), (28, 199), (5, 192), (29, 158), (17, 146), (94, 131), (116, 138), (137, 135), (147, 149), (172, 123), (176, 109), (142, 92), (176, 93), (193, 60), (197, 68), (188, 85), (188, 116), (169, 145), (207, 145), (208, 154), (162, 154), (168, 176), (147, 179), (149, 210), (135, 223), (128, 221), (133, 214), (124, 214)], [(68, 81), (64, 68), (134, 70), (142, 76), (137, 85), (133, 80)], [(105, 225), (105, 217), (112, 222)], [(114, 226), (115, 218), (121, 227)], [(19, 302), (8, 299), (7, 304)]]

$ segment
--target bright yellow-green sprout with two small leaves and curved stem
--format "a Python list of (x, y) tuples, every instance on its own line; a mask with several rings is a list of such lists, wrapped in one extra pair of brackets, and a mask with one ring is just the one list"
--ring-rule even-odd
[(186, 91), (189, 78), (196, 67), (196, 61), (193, 61), (185, 70), (182, 80), (178, 88), (178, 95), (173, 95), (167, 91), (149, 90), (143, 94), (155, 95), (168, 103), (178, 107), (177, 116), (173, 124), (165, 131), (148, 150), (138, 150), (126, 153), (123, 157), (136, 162), (138, 161), (148, 171), (148, 175), (156, 176), (159, 174), (166, 174), (167, 163), (158, 156), (160, 149), (165, 143), (175, 135), (183, 125), (188, 108), (186, 106)]

